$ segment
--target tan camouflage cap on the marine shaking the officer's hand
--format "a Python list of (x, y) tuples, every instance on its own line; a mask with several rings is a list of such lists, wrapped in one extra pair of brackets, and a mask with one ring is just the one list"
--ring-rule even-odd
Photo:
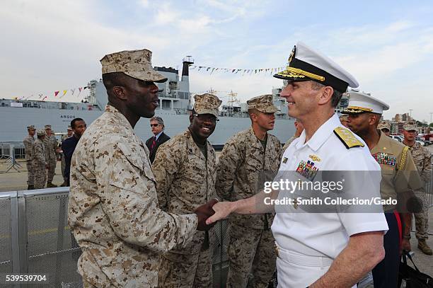
[(130, 50), (107, 54), (100, 59), (102, 73), (123, 72), (132, 78), (152, 81), (165, 82), (167, 77), (154, 70), (151, 63), (152, 52), (143, 50)]

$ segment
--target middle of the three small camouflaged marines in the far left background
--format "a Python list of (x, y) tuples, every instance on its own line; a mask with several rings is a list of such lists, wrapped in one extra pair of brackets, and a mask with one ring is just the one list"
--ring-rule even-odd
[(33, 143), (33, 169), (35, 171), (35, 189), (45, 188), (47, 181), (47, 156), (45, 155), (45, 131), (37, 130), (37, 139)]

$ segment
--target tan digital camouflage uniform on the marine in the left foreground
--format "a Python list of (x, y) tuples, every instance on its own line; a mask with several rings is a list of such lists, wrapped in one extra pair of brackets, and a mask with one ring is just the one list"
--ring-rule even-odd
[(71, 161), (69, 226), (83, 251), (78, 270), (96, 287), (157, 287), (161, 252), (184, 248), (195, 214), (158, 208), (149, 150), (116, 108), (93, 122)]

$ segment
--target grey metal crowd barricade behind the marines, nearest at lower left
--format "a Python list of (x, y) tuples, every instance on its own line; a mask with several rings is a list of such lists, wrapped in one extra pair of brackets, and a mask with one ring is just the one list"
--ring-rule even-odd
[[(47, 282), (6, 287), (82, 287), (76, 262), (81, 250), (67, 222), (69, 188), (0, 192), (0, 273), (46, 275)], [(228, 222), (214, 226), (214, 287), (225, 287)]]

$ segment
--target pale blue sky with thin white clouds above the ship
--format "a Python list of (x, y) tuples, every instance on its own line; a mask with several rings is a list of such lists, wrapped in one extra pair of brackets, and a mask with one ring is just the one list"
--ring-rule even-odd
[[(186, 55), (198, 66), (262, 69), (284, 67), (301, 41), (388, 103), (386, 119), (430, 122), (432, 15), (432, 1), (6, 0), (0, 98), (79, 101), (87, 91), (78, 88), (100, 79), (99, 60), (121, 50), (149, 49), (154, 66), (180, 70)], [(281, 86), (270, 73), (190, 71), (192, 93), (212, 88), (224, 101), (229, 91), (245, 102)]]

